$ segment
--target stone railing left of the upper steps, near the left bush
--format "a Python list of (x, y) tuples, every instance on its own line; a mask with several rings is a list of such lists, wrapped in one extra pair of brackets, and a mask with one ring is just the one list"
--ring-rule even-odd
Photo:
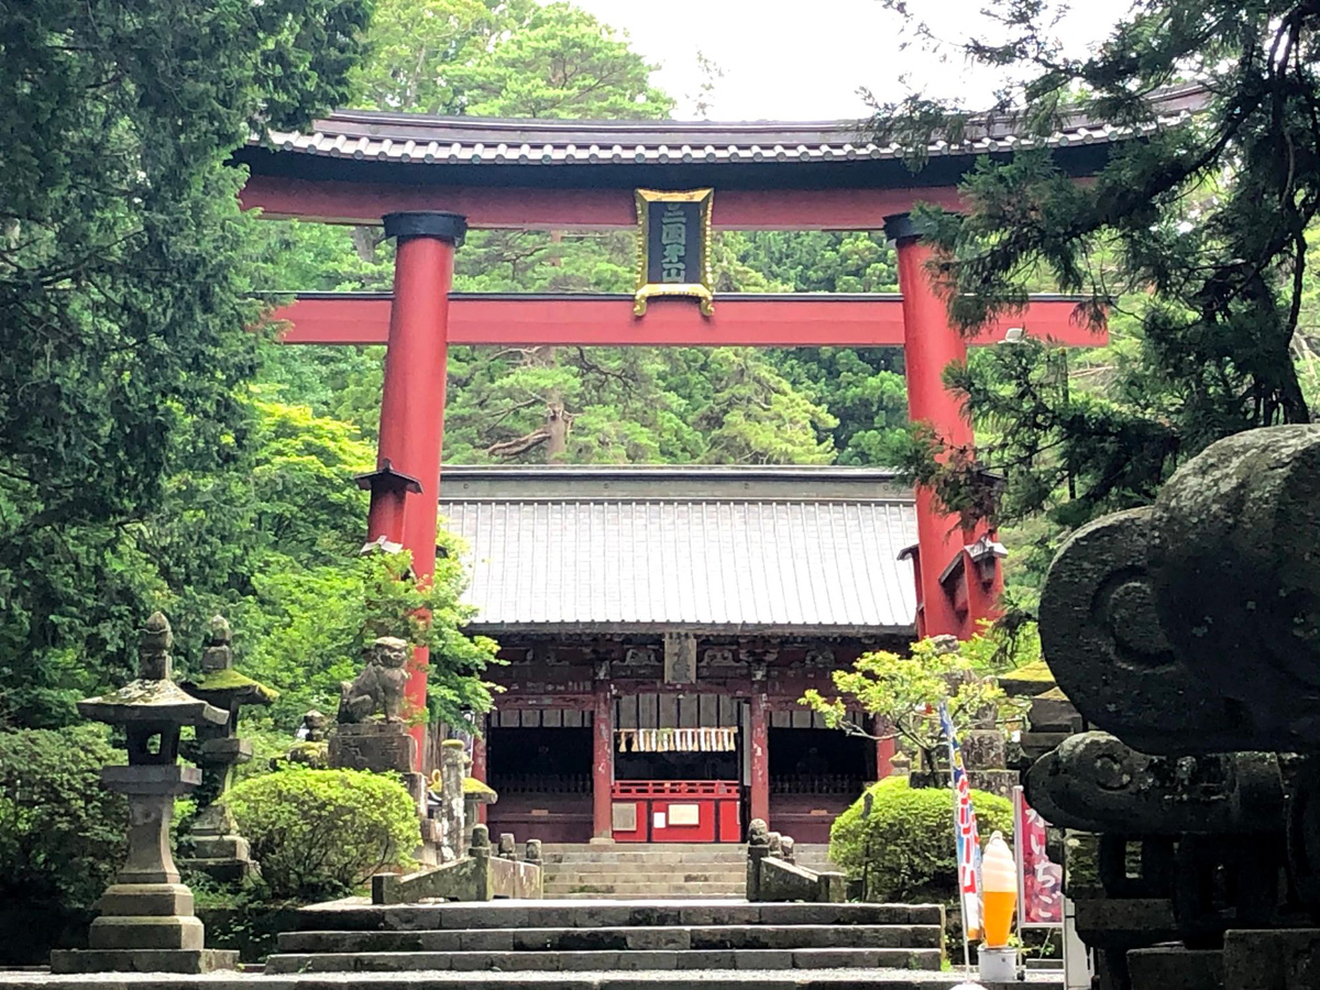
[(467, 855), (433, 870), (407, 875), (383, 873), (371, 878), (372, 904), (412, 904), (418, 900), (494, 900), (495, 898), (540, 898), (541, 843), (529, 840), (523, 859), (517, 858), (513, 837), (499, 837), (491, 846), (484, 825), (473, 828)]

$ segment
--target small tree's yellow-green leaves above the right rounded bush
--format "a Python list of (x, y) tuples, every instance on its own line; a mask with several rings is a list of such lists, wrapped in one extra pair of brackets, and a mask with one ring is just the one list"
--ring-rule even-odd
[(861, 705), (890, 730), (915, 746), (924, 768), (936, 767), (936, 752), (944, 744), (939, 708), (948, 705), (958, 730), (969, 729), (999, 710), (1014, 709), (994, 682), (993, 675), (1011, 671), (1040, 655), (1035, 627), (993, 628), (966, 642), (953, 636), (932, 636), (912, 644), (909, 656), (879, 649), (863, 653), (849, 671), (834, 671), (834, 692), (829, 696), (812, 688), (799, 700), (825, 715), (832, 729), (865, 734), (847, 721), (847, 709)]

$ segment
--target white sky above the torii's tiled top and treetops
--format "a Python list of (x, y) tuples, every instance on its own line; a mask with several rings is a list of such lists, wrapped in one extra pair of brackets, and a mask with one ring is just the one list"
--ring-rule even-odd
[[(903, 20), (879, 0), (573, 0), (606, 24), (626, 30), (632, 48), (661, 67), (653, 82), (678, 99), (676, 116), (692, 117), (702, 77), (701, 51), (723, 70), (709, 116), (713, 120), (824, 120), (866, 116), (857, 90), (879, 99), (913, 88), (969, 106), (990, 103), (994, 78), (972, 75), (958, 58), (900, 50)], [(986, 0), (908, 0), (915, 16), (954, 40)], [(1102, 40), (1126, 3), (1090, 0), (1060, 24), (1077, 51)], [(954, 57), (957, 58), (957, 57)], [(979, 94), (983, 96), (977, 98)]]

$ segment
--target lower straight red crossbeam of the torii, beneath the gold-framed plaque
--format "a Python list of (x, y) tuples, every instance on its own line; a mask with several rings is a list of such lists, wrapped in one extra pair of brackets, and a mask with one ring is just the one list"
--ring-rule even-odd
[[(1003, 339), (1008, 327), (1069, 347), (1097, 347), (1107, 334), (1074, 322), (1077, 300), (1035, 297), (1020, 315), (1001, 319), (970, 343)], [(285, 343), (383, 345), (388, 293), (302, 294), (271, 319), (286, 323)], [(449, 305), (451, 345), (581, 345), (692, 347), (902, 347), (900, 296), (731, 294), (702, 317), (689, 300), (652, 300), (632, 315), (631, 296), (465, 296)]]

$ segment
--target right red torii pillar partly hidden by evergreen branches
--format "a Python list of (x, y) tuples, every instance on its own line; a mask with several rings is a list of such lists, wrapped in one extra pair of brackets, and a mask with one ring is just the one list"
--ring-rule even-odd
[[(887, 216), (884, 232), (898, 251), (908, 418), (931, 426), (946, 447), (970, 449), (975, 440), (972, 422), (944, 384), (944, 370), (965, 364), (968, 347), (949, 326), (945, 301), (927, 271), (935, 252), (921, 243), (906, 213)], [(924, 487), (916, 491), (916, 529), (917, 545), (908, 556), (916, 579), (917, 635), (969, 639), (982, 619), (999, 614), (1003, 548), (985, 524), (965, 529)]]

